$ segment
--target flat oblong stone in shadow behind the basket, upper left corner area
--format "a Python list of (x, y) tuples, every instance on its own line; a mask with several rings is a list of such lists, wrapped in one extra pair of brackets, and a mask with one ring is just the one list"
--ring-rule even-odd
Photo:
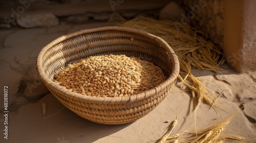
[(17, 19), (18, 26), (24, 28), (51, 27), (58, 23), (58, 18), (52, 13), (24, 14)]

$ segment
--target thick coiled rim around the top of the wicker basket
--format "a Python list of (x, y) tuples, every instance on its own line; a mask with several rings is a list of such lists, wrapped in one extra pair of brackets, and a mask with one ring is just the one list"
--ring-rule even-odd
[[(110, 30), (112, 30), (112, 31), (132, 32), (132, 33), (140, 34), (140, 35), (149, 37), (152, 40), (158, 40), (158, 42), (161, 42), (163, 45), (165, 45), (166, 50), (168, 50), (172, 54), (172, 58), (174, 60), (173, 71), (170, 74), (170, 76), (165, 81), (160, 83), (158, 86), (156, 86), (156, 87), (154, 87), (150, 90), (141, 92), (139, 94), (134, 94), (133, 96), (121, 97), (121, 98), (101, 98), (101, 97), (100, 98), (95, 98), (95, 97), (90, 97), (90, 96), (83, 96), (82, 94), (69, 91), (65, 87), (60, 86), (57, 83), (53, 82), (51, 79), (49, 79), (46, 76), (45, 71), (42, 68), (41, 59), (42, 59), (42, 56), (45, 54), (45, 52), (47, 50), (49, 50), (52, 46), (54, 46), (54, 45), (56, 45), (56, 44), (58, 44), (58, 43), (60, 43), (64, 40), (67, 40), (69, 38), (72, 38), (72, 37), (75, 37), (75, 36), (78, 36), (78, 35), (81, 35), (81, 34), (102, 32), (102, 31), (110, 31)], [(123, 105), (127, 104), (127, 105), (130, 105), (130, 104), (133, 104), (133, 103), (138, 102), (140, 100), (143, 100), (145, 98), (153, 96), (155, 93), (160, 92), (162, 89), (164, 89), (170, 83), (175, 82), (175, 80), (176, 80), (176, 78), (179, 74), (180, 66), (179, 66), (179, 60), (178, 60), (177, 55), (175, 54), (173, 49), (169, 46), (169, 44), (166, 43), (162, 38), (157, 37), (153, 34), (147, 33), (145, 31), (142, 31), (142, 30), (135, 30), (135, 29), (130, 29), (130, 28), (110, 26), (110, 27), (100, 27), (100, 28), (79, 30), (79, 31), (76, 31), (76, 32), (58, 37), (57, 39), (53, 40), (52, 42), (50, 42), (49, 44), (47, 44), (45, 47), (43, 47), (41, 49), (41, 51), (39, 52), (39, 54), (37, 56), (36, 69), (37, 69), (37, 72), (39, 74), (40, 79), (45, 84), (47, 84), (48, 86), (56, 89), (56, 91), (61, 92), (62, 95), (68, 96), (72, 99), (79, 99), (79, 101), (89, 102), (89, 103), (123, 104)]]

